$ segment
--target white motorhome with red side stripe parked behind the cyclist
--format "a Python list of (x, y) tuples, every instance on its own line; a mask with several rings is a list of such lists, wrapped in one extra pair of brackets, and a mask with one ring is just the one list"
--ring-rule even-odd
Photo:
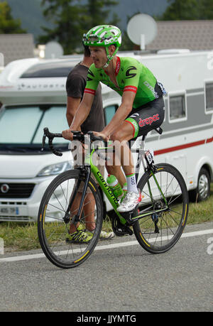
[[(155, 163), (175, 165), (190, 193), (203, 200), (213, 179), (213, 52), (119, 55), (137, 58), (163, 83), (163, 134), (149, 134), (146, 148), (153, 148)], [(72, 165), (65, 140), (57, 141), (62, 157), (40, 152), (40, 144), (43, 127), (67, 128), (65, 82), (80, 60), (16, 60), (1, 72), (0, 221), (35, 221), (48, 183)], [(109, 123), (121, 97), (105, 85), (102, 97)]]

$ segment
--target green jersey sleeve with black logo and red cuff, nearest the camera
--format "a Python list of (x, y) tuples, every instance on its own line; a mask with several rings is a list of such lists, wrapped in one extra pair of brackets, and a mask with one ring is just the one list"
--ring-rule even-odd
[(124, 92), (134, 92), (138, 90), (138, 83), (141, 75), (141, 67), (137, 60), (129, 61), (124, 67)]

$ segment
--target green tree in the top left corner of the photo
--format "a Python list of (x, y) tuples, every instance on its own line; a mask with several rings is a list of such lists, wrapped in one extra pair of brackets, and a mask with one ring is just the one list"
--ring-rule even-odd
[(13, 19), (11, 7), (6, 1), (0, 2), (0, 33), (26, 33), (26, 30), (21, 28), (20, 19)]

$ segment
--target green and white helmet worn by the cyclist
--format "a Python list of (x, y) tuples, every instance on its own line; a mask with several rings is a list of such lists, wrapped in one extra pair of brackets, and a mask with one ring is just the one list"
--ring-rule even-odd
[[(112, 25), (95, 26), (91, 28), (87, 34), (84, 34), (83, 43), (88, 46), (104, 46), (107, 51), (108, 59), (104, 67), (107, 67), (119, 50), (119, 46), (121, 46), (121, 31), (118, 27)], [(116, 45), (116, 50), (113, 55), (109, 55), (109, 45)]]

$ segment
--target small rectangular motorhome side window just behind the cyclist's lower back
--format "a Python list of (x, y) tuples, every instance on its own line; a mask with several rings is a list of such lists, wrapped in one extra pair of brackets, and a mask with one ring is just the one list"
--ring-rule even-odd
[(186, 119), (185, 94), (169, 96), (170, 121)]

